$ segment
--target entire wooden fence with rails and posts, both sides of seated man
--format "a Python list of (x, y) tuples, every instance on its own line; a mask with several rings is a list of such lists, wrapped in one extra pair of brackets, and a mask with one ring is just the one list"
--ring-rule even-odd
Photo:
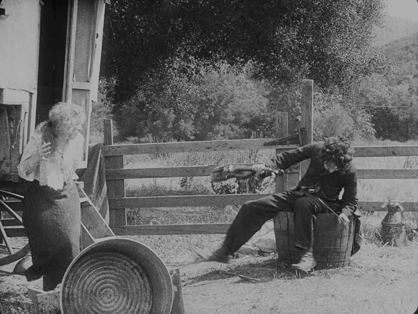
[[(307, 140), (312, 141), (312, 113), (313, 113), (313, 81), (302, 82), (301, 127), (307, 130)], [(276, 114), (276, 136), (288, 135), (288, 115)], [(276, 153), (297, 148), (296, 144), (280, 146), (265, 146), (264, 143), (273, 140), (242, 139), (242, 140), (213, 140), (194, 142), (169, 142), (147, 144), (114, 144), (112, 120), (105, 120), (105, 146), (103, 151), (106, 159), (106, 177), (110, 208), (110, 226), (118, 235), (154, 235), (154, 234), (210, 234), (225, 233), (229, 224), (179, 224), (179, 225), (127, 225), (126, 208), (156, 208), (156, 207), (186, 207), (186, 206), (225, 206), (241, 205), (246, 201), (258, 199), (268, 194), (234, 194), (234, 195), (197, 195), (197, 196), (155, 196), (155, 197), (126, 197), (125, 179), (141, 178), (170, 178), (170, 177), (198, 177), (210, 176), (217, 164), (176, 166), (158, 168), (124, 168), (124, 155), (158, 154), (177, 152), (213, 152), (247, 149), (276, 149)], [(388, 146), (388, 147), (355, 147), (356, 157), (389, 157), (389, 156), (417, 156), (418, 146)], [(283, 191), (295, 185), (300, 174), (306, 170), (308, 161), (299, 167), (291, 168), (276, 182), (276, 191)], [(361, 179), (416, 179), (418, 170), (410, 169), (358, 169)], [(386, 211), (382, 202), (361, 201), (359, 205), (364, 210)], [(418, 211), (414, 202), (403, 203), (405, 211)], [(140, 209), (139, 209), (140, 210)]]

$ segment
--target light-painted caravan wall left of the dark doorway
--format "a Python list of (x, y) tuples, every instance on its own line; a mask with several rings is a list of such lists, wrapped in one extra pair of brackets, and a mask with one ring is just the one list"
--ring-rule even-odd
[(41, 5), (3, 0), (0, 8), (0, 180), (13, 180), (35, 126)]

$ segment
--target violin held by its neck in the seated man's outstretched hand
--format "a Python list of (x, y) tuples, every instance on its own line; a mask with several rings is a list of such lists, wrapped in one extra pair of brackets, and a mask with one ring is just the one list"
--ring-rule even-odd
[[(237, 178), (240, 180), (251, 178), (255, 175), (255, 171), (252, 170), (253, 164), (232, 163), (222, 166), (217, 166), (211, 173), (211, 182), (221, 182), (230, 178)], [(276, 170), (266, 167), (260, 175), (262, 177), (269, 177), (273, 174), (282, 175), (282, 170)]]

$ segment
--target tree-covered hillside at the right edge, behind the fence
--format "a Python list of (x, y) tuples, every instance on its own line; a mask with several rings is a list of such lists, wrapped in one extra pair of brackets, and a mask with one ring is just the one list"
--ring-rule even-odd
[(355, 102), (372, 115), (376, 137), (407, 140), (418, 136), (418, 36), (396, 40), (384, 47), (387, 71), (361, 77)]

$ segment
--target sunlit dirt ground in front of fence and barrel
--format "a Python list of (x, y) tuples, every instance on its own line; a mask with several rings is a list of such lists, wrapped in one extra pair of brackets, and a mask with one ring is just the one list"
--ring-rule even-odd
[[(418, 241), (409, 241), (404, 248), (365, 243), (348, 267), (298, 276), (273, 255), (242, 256), (229, 264), (192, 262), (190, 248), (216, 247), (220, 239), (217, 235), (156, 237), (139, 240), (158, 253), (168, 269), (180, 269), (182, 296), (189, 314), (412, 314), (418, 307)], [(192, 238), (187, 241), (188, 237)], [(187, 241), (188, 246), (174, 254), (173, 241)], [(152, 245), (156, 243), (159, 245)], [(0, 311), (33, 312), (27, 287), (21, 276), (0, 272)]]

